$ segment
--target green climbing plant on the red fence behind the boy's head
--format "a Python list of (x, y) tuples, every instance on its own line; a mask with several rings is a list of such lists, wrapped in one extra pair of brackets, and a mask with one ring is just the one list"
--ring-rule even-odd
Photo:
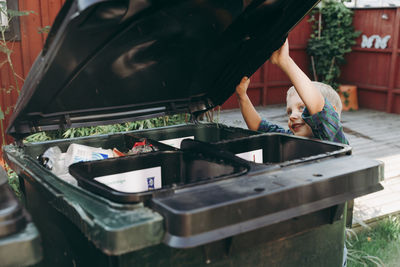
[(361, 34), (353, 27), (353, 11), (343, 4), (343, 0), (323, 0), (311, 12), (309, 22), (312, 33), (307, 44), (311, 57), (311, 71), (315, 81), (331, 85), (335, 90), (339, 84), (340, 66), (345, 63), (345, 55), (356, 44)]

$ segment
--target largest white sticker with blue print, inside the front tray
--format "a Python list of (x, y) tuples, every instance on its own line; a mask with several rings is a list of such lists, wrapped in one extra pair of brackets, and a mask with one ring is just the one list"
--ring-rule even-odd
[(161, 188), (161, 167), (117, 173), (94, 178), (117, 191), (137, 193)]

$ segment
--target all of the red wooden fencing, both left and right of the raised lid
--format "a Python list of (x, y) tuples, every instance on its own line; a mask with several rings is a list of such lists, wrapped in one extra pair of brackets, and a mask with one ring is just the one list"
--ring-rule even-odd
[[(17, 74), (26, 77), (35, 58), (39, 54), (46, 34), (39, 29), (51, 25), (64, 0), (19, 0), (20, 10), (34, 11), (20, 18), (21, 41), (10, 44), (14, 53), (12, 60)], [(354, 25), (357, 30), (367, 36), (377, 34), (381, 37), (391, 35), (386, 49), (361, 48), (361, 37), (353, 52), (347, 57), (348, 64), (342, 71), (342, 82), (352, 83), (359, 88), (359, 104), (361, 107), (387, 112), (400, 113), (400, 53), (399, 25), (400, 9), (357, 9)], [(305, 52), (310, 27), (304, 19), (290, 33), (290, 54), (297, 64), (307, 73), (309, 59)], [(0, 55), (0, 62), (4, 57)], [(252, 77), (249, 96), (255, 105), (285, 103), (285, 94), (290, 82), (277, 67), (264, 64)], [(19, 81), (19, 86), (23, 83)], [(0, 105), (5, 111), (3, 125), (8, 125), (13, 106), (18, 94), (10, 90), (14, 85), (9, 68), (3, 65), (0, 69)], [(223, 108), (237, 107), (236, 96), (232, 96)], [(6, 142), (11, 139), (7, 138)], [(2, 146), (0, 138), (0, 147)], [(1, 155), (0, 155), (1, 156)]]

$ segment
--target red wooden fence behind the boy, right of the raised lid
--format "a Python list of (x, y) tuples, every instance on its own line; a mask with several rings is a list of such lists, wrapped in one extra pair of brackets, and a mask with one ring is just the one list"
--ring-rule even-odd
[[(362, 35), (342, 68), (340, 82), (358, 87), (360, 107), (400, 113), (400, 9), (355, 9), (354, 27), (370, 37), (390, 35), (385, 49), (361, 48)], [(304, 19), (289, 35), (291, 56), (310, 77), (309, 58), (305, 52), (310, 27)], [(290, 86), (287, 77), (275, 66), (266, 63), (253, 76), (249, 97), (255, 105), (285, 103), (285, 93)], [(238, 107), (232, 96), (224, 108)]]

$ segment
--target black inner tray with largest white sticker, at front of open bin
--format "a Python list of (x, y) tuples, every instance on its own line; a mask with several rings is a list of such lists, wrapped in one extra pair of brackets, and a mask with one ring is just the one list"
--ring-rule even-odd
[[(155, 194), (169, 194), (184, 186), (243, 175), (249, 169), (250, 165), (246, 165), (244, 161), (235, 157), (221, 158), (190, 151), (157, 151), (102, 161), (79, 162), (69, 167), (70, 173), (78, 180), (79, 186), (121, 203), (141, 202)], [(146, 170), (146, 173), (137, 174), (136, 172), (143, 170)], [(98, 177), (104, 179), (104, 176), (108, 176), (106, 177), (108, 179), (110, 175), (116, 174), (119, 176), (111, 179), (114, 188), (95, 179)], [(144, 183), (145, 186), (149, 178), (153, 178), (153, 182), (157, 183), (158, 176), (161, 176), (160, 189), (154, 186), (154, 190), (129, 192), (125, 186), (130, 184), (132, 179), (136, 179), (136, 184)], [(135, 190), (136, 184), (133, 186)], [(118, 189), (119, 185), (125, 188), (125, 192)]]

